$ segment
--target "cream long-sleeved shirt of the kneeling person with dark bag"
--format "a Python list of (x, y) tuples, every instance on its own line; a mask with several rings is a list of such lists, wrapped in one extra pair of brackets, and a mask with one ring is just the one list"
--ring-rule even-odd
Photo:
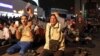
[(50, 31), (50, 26), (51, 26), (51, 23), (47, 23), (46, 25), (46, 34), (45, 34), (45, 40), (46, 40), (46, 43), (44, 45), (44, 49), (50, 49), (49, 48), (49, 34), (51, 35), (51, 39), (53, 40), (59, 40), (59, 37), (60, 37), (60, 47), (59, 47), (59, 50), (62, 50), (64, 51), (65, 49), (65, 44), (64, 44), (64, 37), (62, 36), (62, 33), (61, 33), (61, 24), (60, 23), (57, 23), (55, 26), (51, 27), (51, 33), (49, 32)]

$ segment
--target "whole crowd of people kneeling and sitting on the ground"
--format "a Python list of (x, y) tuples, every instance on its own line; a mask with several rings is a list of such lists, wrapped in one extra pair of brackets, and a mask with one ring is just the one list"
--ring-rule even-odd
[(28, 16), (22, 15), (21, 23), (15, 21), (8, 25), (6, 22), (0, 22), (0, 45), (12, 44), (7, 49), (8, 54), (19, 51), (19, 54), (24, 56), (31, 45), (35, 46), (34, 42), (42, 40), (45, 44), (41, 56), (64, 56), (68, 42), (84, 45), (92, 41), (91, 21), (85, 21), (82, 17), (63, 19), (59, 17), (58, 12), (54, 12), (43, 29), (32, 8), (29, 7), (26, 11)]

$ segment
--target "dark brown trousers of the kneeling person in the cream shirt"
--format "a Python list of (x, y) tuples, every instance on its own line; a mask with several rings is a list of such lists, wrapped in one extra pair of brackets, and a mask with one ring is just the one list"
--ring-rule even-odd
[(64, 52), (61, 50), (52, 52), (50, 50), (44, 49), (40, 56), (64, 56)]

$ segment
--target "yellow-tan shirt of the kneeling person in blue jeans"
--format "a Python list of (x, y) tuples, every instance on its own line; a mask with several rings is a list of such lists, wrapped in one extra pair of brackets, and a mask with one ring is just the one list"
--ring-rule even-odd
[(28, 27), (20, 26), (18, 31), (22, 34), (20, 41), (22, 42), (32, 42), (33, 36), (30, 36), (30, 32), (32, 31)]

